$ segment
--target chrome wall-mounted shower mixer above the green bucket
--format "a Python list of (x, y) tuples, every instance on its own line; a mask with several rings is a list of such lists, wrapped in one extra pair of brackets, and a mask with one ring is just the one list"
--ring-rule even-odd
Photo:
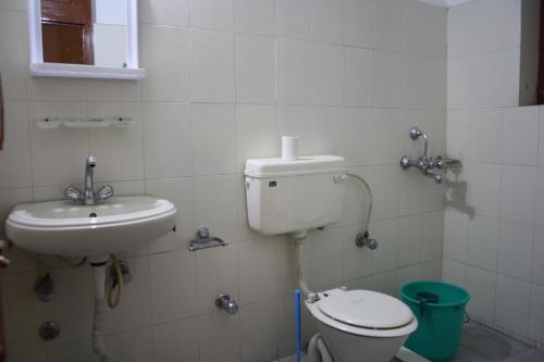
[[(444, 175), (447, 171), (452, 172), (454, 175), (461, 173), (462, 164), (459, 160), (448, 159), (442, 155), (429, 155), (429, 138), (420, 128), (411, 127), (410, 138), (417, 140), (420, 137), (422, 137), (424, 141), (423, 155), (418, 160), (411, 160), (408, 155), (404, 155), (400, 159), (400, 167), (404, 170), (417, 167), (423, 175), (433, 178), (436, 184), (441, 184), (444, 180)], [(443, 171), (443, 174), (433, 173), (431, 170)]]

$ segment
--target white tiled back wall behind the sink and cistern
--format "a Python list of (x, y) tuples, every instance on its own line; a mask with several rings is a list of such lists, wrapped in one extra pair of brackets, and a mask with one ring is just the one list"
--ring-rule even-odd
[[(305, 248), (310, 285), (346, 284), (396, 294), (417, 278), (440, 278), (443, 190), (399, 157), (421, 145), (412, 124), (446, 140), (446, 11), (415, 0), (141, 0), (141, 83), (37, 79), (27, 75), (24, 0), (0, 0), (0, 70), (7, 143), (0, 152), (2, 219), (17, 202), (59, 199), (81, 183), (88, 154), (97, 180), (118, 195), (173, 200), (178, 230), (123, 255), (134, 277), (108, 312), (114, 360), (267, 361), (294, 350), (293, 250), (247, 227), (243, 165), (274, 157), (282, 135), (302, 153), (347, 158), (374, 190), (375, 251), (358, 249), (367, 197), (348, 185), (343, 221)], [(44, 116), (131, 115), (129, 129), (38, 130)], [(231, 244), (188, 252), (195, 228)], [(10, 361), (95, 361), (92, 279), (52, 259), (10, 252), (2, 275)], [(50, 271), (49, 304), (33, 295)], [(215, 311), (231, 294), (235, 316)], [(61, 323), (49, 344), (41, 322)], [(312, 330), (305, 321), (306, 337)]]

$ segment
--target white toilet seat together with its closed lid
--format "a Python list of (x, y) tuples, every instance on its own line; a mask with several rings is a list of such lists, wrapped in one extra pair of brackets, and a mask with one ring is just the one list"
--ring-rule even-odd
[(358, 336), (399, 337), (416, 330), (418, 321), (396, 298), (371, 290), (331, 289), (306, 305), (321, 323)]

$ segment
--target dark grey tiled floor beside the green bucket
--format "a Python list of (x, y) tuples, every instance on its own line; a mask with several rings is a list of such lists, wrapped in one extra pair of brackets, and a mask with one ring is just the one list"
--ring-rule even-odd
[[(289, 355), (274, 362), (295, 361), (295, 355)], [(462, 333), (459, 352), (450, 362), (544, 362), (544, 350), (531, 348), (483, 325), (469, 323)]]

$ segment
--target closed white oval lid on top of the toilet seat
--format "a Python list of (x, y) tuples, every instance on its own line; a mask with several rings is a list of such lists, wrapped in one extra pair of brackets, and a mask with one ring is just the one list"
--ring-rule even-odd
[(332, 294), (320, 300), (319, 309), (338, 322), (363, 328), (398, 328), (412, 321), (412, 313), (405, 303), (371, 290)]

